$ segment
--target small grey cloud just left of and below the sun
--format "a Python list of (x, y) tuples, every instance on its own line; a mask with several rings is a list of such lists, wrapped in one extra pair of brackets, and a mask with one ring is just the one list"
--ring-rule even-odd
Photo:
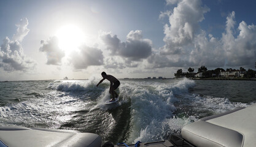
[(48, 65), (61, 65), (61, 59), (65, 56), (64, 51), (58, 47), (58, 38), (55, 36), (46, 41), (41, 40), (39, 51), (45, 52)]

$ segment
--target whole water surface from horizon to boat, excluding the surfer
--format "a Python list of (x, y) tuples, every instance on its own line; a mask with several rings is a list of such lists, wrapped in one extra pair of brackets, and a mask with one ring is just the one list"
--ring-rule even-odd
[(256, 81), (101, 79), (0, 82), (0, 126), (71, 129), (114, 143), (165, 140), (205, 116), (256, 102)]

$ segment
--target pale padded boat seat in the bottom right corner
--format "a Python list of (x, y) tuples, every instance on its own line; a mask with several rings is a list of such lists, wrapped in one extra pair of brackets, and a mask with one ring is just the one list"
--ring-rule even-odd
[(182, 127), (195, 146), (256, 146), (256, 104), (202, 118)]

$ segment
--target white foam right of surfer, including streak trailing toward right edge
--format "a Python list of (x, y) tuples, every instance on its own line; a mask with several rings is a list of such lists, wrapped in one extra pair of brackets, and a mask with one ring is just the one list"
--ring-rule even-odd
[[(196, 121), (197, 116), (173, 116), (176, 110), (173, 104), (179, 100), (185, 100), (184, 104), (191, 105), (195, 111), (221, 113), (236, 107), (246, 107), (246, 104), (230, 102), (225, 98), (190, 94), (188, 89), (193, 86), (195, 81), (187, 78), (174, 83), (125, 83), (121, 92), (131, 99), (131, 130), (128, 142), (163, 140), (168, 135), (179, 133), (185, 124)], [(176, 95), (182, 99), (175, 97)]]

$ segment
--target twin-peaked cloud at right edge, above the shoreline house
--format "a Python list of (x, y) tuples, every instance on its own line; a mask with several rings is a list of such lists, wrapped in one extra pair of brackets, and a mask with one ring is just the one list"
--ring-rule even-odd
[(227, 66), (252, 65), (256, 59), (256, 25), (241, 21), (239, 34), (235, 33), (235, 12), (227, 17), (226, 32), (222, 34), (223, 50), (226, 52)]

